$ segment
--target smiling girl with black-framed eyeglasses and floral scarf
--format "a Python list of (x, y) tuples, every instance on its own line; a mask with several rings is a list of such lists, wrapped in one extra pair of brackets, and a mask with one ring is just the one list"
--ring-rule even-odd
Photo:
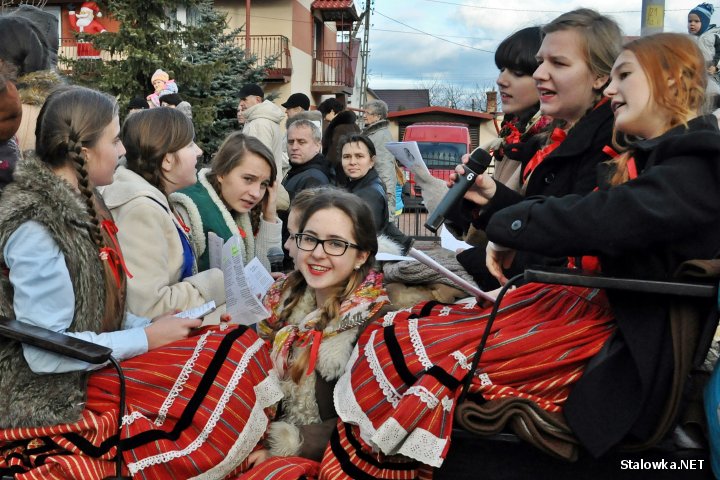
[[(388, 302), (382, 275), (373, 270), (378, 244), (363, 200), (319, 191), (297, 232), (296, 270), (271, 287), (264, 299), (271, 315), (258, 325), (272, 342), (285, 397), (270, 424), (267, 450), (251, 457), (256, 463), (270, 456), (322, 457), (337, 421), (335, 382), (360, 331)], [(253, 478), (265, 477), (259, 471)]]

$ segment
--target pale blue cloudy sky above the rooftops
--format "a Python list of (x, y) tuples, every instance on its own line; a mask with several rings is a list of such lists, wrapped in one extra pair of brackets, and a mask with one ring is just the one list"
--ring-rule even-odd
[[(364, 0), (355, 0), (362, 11)], [(665, 31), (687, 32), (699, 1), (666, 0)], [(614, 18), (626, 35), (640, 34), (640, 0), (374, 0), (369, 86), (421, 88), (433, 79), (472, 87), (493, 85), (493, 55), (509, 34), (589, 7)], [(720, 11), (712, 18), (720, 24)], [(362, 32), (360, 33), (362, 35)]]

